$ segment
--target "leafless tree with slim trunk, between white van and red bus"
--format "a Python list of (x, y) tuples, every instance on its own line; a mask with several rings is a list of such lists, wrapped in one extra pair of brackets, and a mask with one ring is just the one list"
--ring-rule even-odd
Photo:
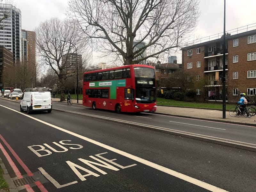
[[(74, 70), (70, 69), (76, 65), (76, 62), (67, 62), (69, 55), (79, 54), (85, 41), (80, 38), (76, 23), (70, 20), (45, 20), (39, 24), (35, 32), (39, 56), (58, 76), (60, 101), (64, 101), (64, 80), (75, 74)], [(66, 57), (63, 57), (65, 54)]]

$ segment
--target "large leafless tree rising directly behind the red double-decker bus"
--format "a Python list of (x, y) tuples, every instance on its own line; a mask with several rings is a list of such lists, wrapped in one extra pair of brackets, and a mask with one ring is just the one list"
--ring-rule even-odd
[(68, 14), (98, 51), (124, 65), (179, 47), (199, 16), (198, 0), (70, 0)]

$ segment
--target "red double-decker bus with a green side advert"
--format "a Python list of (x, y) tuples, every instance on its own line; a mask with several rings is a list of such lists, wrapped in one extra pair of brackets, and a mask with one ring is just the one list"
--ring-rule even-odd
[(136, 64), (85, 72), (83, 105), (117, 113), (155, 112), (155, 71)]

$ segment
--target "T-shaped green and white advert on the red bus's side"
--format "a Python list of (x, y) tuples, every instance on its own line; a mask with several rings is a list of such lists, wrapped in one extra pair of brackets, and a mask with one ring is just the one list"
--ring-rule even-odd
[(126, 80), (120, 79), (120, 80), (110, 80), (110, 81), (97, 81), (97, 82), (91, 82), (89, 84), (90, 88), (103, 88), (103, 87), (109, 87), (110, 92), (110, 99), (116, 99), (116, 87), (125, 87), (126, 86)]

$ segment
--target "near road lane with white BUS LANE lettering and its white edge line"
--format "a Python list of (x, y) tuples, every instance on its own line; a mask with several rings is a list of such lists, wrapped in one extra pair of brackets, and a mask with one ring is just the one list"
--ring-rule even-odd
[[(20, 158), (16, 160), (28, 167), (26, 170), (21, 165), (27, 175), (31, 175), (28, 170), (36, 175), (34, 180), (41, 181), (48, 191), (225, 191), (35, 117), (15, 113), (19, 113), (16, 118), (20, 124), (26, 123), (25, 128), (16, 126), (14, 133), (7, 127), (1, 136)], [(19, 137), (12, 140), (14, 134)], [(30, 185), (39, 191), (33, 183)]]

